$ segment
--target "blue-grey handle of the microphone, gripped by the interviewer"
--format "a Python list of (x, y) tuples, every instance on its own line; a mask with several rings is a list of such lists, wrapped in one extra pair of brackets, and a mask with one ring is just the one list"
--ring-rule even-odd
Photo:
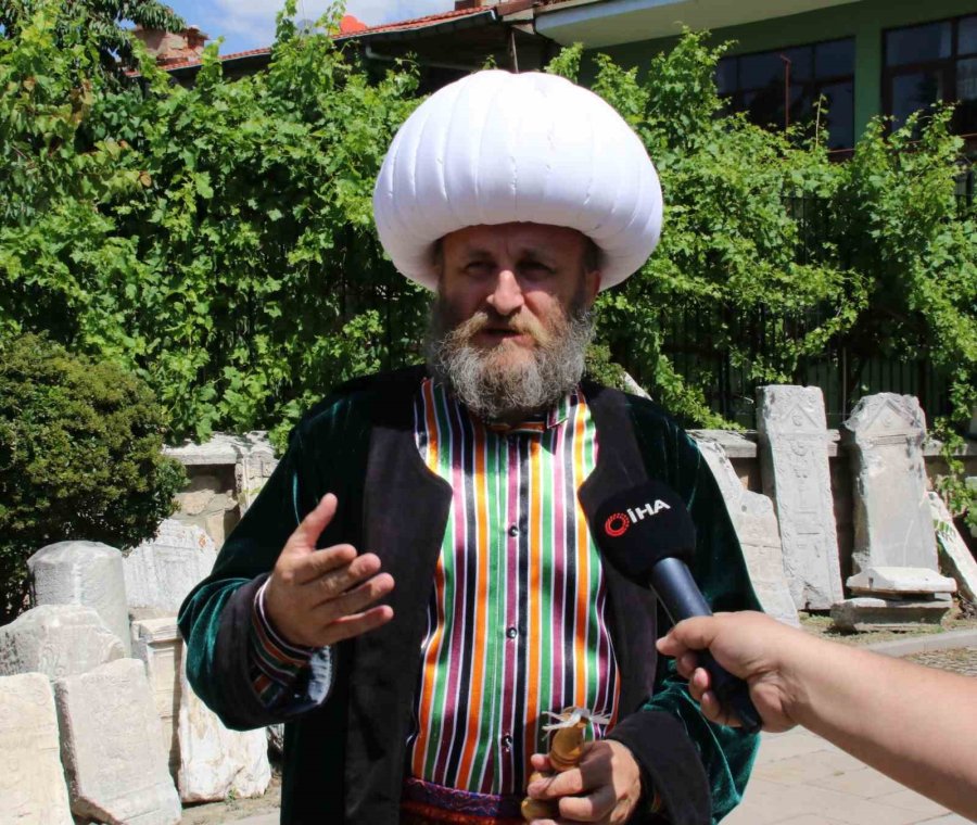
[[(651, 568), (651, 588), (675, 624), (696, 615), (712, 615), (696, 580), (681, 559), (664, 558), (657, 562)], [(746, 733), (754, 734), (760, 731), (763, 721), (750, 699), (747, 683), (723, 668), (709, 650), (697, 650), (696, 656), (699, 658), (699, 667), (709, 673), (712, 691), (720, 705), (727, 711), (733, 710)]]

